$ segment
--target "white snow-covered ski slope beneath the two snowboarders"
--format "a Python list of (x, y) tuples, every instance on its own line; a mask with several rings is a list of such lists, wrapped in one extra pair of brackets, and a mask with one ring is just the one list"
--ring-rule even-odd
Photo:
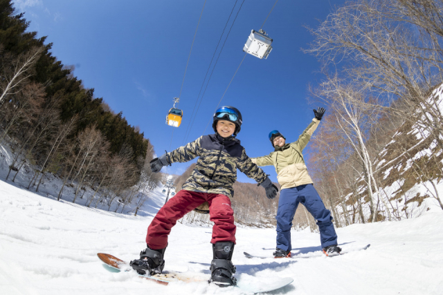
[[(147, 226), (165, 195), (159, 187), (147, 216), (128, 216), (57, 202), (0, 181), (0, 294), (242, 294), (235, 287), (199, 283), (158, 285), (134, 272), (111, 273), (96, 254), (124, 260), (145, 248)], [(294, 279), (271, 294), (443, 294), (443, 212), (431, 210), (400, 222), (338, 229), (343, 256), (320, 255), (319, 236), (292, 233), (293, 254), (273, 259), (275, 229), (237, 228), (233, 263), (239, 280)], [(177, 223), (165, 253), (165, 270), (209, 277), (211, 229)], [(364, 251), (352, 251), (371, 244)], [(317, 251), (317, 252), (315, 252)]]

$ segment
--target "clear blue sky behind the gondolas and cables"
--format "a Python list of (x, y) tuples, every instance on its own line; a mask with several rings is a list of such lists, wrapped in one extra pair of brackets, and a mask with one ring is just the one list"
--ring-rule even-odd
[[(206, 1), (178, 105), (183, 109), (183, 122), (174, 128), (165, 124), (165, 117), (172, 98), (180, 94), (204, 2), (17, 0), (15, 8), (26, 12), (29, 30), (53, 42), (53, 55), (63, 64), (75, 66), (74, 75), (84, 86), (95, 88), (95, 96), (103, 97), (116, 113), (123, 111), (129, 124), (140, 126), (161, 155), (213, 133), (212, 122), (206, 131), (205, 127), (244, 57), (244, 43), (252, 29), (262, 26), (275, 0), (244, 1), (186, 140), (192, 110), (235, 0)], [(215, 59), (242, 2), (237, 1)], [(315, 85), (322, 77), (316, 73), (318, 61), (300, 51), (312, 41), (303, 26), (316, 26), (318, 19), (323, 21), (343, 2), (280, 0), (271, 12), (263, 27), (273, 39), (271, 54), (268, 59), (247, 55), (220, 104), (242, 112), (242, 131), (237, 138), (250, 157), (273, 151), (268, 140), (273, 129), (293, 142), (314, 117), (312, 108), (316, 106), (307, 102), (307, 85)], [(188, 165), (173, 164), (166, 171), (180, 174)], [(272, 166), (264, 171), (277, 181)], [(253, 182), (242, 173), (238, 180)]]

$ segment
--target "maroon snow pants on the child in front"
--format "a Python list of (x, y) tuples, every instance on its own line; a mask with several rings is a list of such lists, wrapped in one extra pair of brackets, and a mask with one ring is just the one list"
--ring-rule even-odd
[(161, 207), (147, 228), (147, 246), (153, 250), (165, 248), (168, 245), (168, 235), (177, 220), (204, 202), (209, 203), (210, 221), (214, 222), (213, 238), (210, 242), (235, 243), (234, 211), (230, 207), (230, 199), (218, 193), (199, 193), (182, 189)]

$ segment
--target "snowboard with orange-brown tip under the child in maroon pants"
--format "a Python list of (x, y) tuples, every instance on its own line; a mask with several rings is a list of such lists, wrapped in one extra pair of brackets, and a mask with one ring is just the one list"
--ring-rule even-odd
[[(109, 272), (129, 272), (134, 269), (129, 265), (129, 263), (112, 256), (111, 254), (98, 253), (98, 258), (105, 263), (105, 268)], [(163, 274), (154, 274), (143, 275), (138, 274), (141, 278), (145, 278), (147, 280), (151, 280), (155, 283), (159, 283), (161, 285), (168, 285), (172, 282), (182, 281), (185, 283), (192, 282), (205, 282), (208, 283), (208, 278), (199, 275), (186, 274), (181, 272), (164, 272)], [(247, 276), (247, 275), (246, 275)], [(289, 285), (293, 282), (293, 278), (269, 278), (269, 280), (263, 281), (262, 278), (253, 278), (253, 279), (242, 279), (237, 278), (237, 285), (234, 287), (238, 287), (245, 292), (252, 293), (260, 293), (260, 292), (270, 292), (276, 289), (280, 289), (284, 286)]]

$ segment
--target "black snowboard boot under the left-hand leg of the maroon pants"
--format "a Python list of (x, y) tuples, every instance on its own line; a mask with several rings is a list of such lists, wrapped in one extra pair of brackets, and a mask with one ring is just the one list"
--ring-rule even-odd
[(138, 274), (161, 274), (163, 267), (165, 267), (165, 260), (163, 255), (165, 254), (165, 249), (153, 250), (147, 247), (145, 250), (140, 252), (140, 259), (132, 260), (129, 265), (135, 269)]

